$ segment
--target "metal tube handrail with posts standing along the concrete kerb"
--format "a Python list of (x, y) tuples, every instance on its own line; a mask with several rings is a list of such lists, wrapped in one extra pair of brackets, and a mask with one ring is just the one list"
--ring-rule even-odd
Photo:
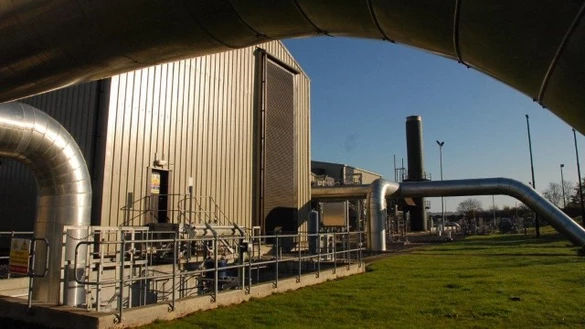
[[(157, 280), (172, 280), (172, 291), (168, 292), (170, 294), (167, 295), (166, 298), (170, 297), (169, 299), (165, 299), (168, 301), (169, 304), (169, 310), (173, 311), (174, 310), (174, 306), (175, 306), (175, 302), (176, 302), (176, 295), (175, 295), (175, 291), (177, 289), (177, 282), (178, 280), (180, 280), (180, 278), (182, 277), (197, 277), (195, 278), (195, 280), (198, 280), (200, 282), (205, 282), (205, 281), (213, 281), (213, 284), (211, 286), (212, 290), (210, 290), (207, 293), (210, 293), (212, 296), (212, 302), (216, 301), (217, 299), (217, 294), (220, 291), (220, 287), (219, 287), (219, 282), (220, 282), (220, 275), (219, 272), (220, 271), (227, 271), (227, 270), (237, 270), (238, 273), (238, 278), (239, 278), (239, 285), (238, 287), (240, 289), (244, 289), (247, 293), (249, 293), (252, 289), (253, 286), (253, 280), (252, 280), (252, 271), (253, 270), (260, 270), (261, 267), (264, 266), (270, 266), (270, 265), (274, 265), (276, 268), (275, 271), (275, 276), (273, 279), (273, 285), (275, 287), (278, 286), (278, 282), (281, 279), (282, 275), (279, 273), (278, 271), (278, 267), (280, 266), (279, 264), (281, 263), (285, 263), (285, 262), (298, 262), (299, 264), (299, 268), (298, 268), (298, 273), (296, 274), (297, 277), (297, 281), (300, 282), (301, 278), (302, 278), (302, 274), (303, 274), (303, 267), (302, 262), (303, 261), (313, 261), (315, 262), (315, 264), (317, 265), (317, 270), (316, 270), (316, 277), (319, 277), (320, 273), (322, 272), (322, 268), (321, 268), (321, 263), (324, 260), (331, 260), (331, 264), (333, 264), (333, 273), (335, 273), (335, 268), (337, 267), (338, 263), (340, 260), (342, 260), (343, 264), (346, 266), (351, 266), (351, 263), (353, 262), (361, 262), (361, 253), (364, 250), (362, 244), (361, 244), (361, 236), (363, 235), (363, 232), (344, 232), (344, 233), (315, 233), (315, 234), (303, 234), (303, 233), (297, 233), (297, 234), (282, 234), (282, 235), (262, 235), (262, 236), (254, 236), (253, 239), (276, 239), (276, 243), (275, 243), (275, 257), (273, 259), (270, 260), (266, 260), (266, 259), (261, 259), (258, 261), (254, 261), (252, 260), (252, 254), (248, 255), (248, 259), (245, 260), (243, 258), (240, 258), (238, 263), (232, 263), (232, 264), (225, 264), (225, 265), (221, 265), (219, 264), (219, 254), (217, 252), (218, 248), (217, 246), (219, 245), (219, 241), (220, 239), (222, 239), (221, 236), (218, 236), (217, 234), (215, 234), (213, 237), (195, 237), (195, 238), (179, 238), (177, 236), (177, 232), (168, 232), (168, 233), (172, 233), (172, 238), (164, 238), (164, 239), (136, 239), (136, 240), (127, 240), (125, 238), (124, 234), (121, 234), (120, 237), (121, 239), (115, 240), (115, 241), (80, 241), (77, 243), (77, 245), (75, 246), (75, 258), (73, 259), (73, 264), (74, 264), (74, 268), (77, 268), (78, 264), (79, 264), (79, 258), (80, 258), (80, 248), (82, 248), (82, 246), (88, 246), (89, 248), (100, 248), (100, 250), (102, 249), (107, 249), (107, 247), (102, 248), (99, 247), (101, 245), (103, 246), (108, 246), (108, 245), (115, 245), (117, 246), (117, 250), (116, 250), (116, 255), (119, 255), (117, 257), (119, 257), (119, 261), (116, 261), (114, 263), (113, 266), (117, 267), (117, 273), (119, 273), (118, 277), (114, 277), (112, 279), (98, 279), (97, 280), (92, 280), (91, 279), (91, 275), (83, 275), (83, 273), (78, 273), (75, 272), (75, 277), (74, 280), (75, 282), (77, 282), (78, 284), (82, 284), (82, 285), (86, 285), (86, 286), (94, 286), (96, 290), (99, 290), (100, 286), (107, 286), (107, 285), (116, 285), (119, 286), (119, 288), (117, 288), (117, 291), (119, 291), (118, 293), (118, 306), (117, 306), (117, 319), (118, 321), (122, 320), (122, 315), (123, 315), (123, 310), (124, 310), (124, 292), (123, 290), (125, 289), (125, 287), (128, 287), (129, 285), (132, 285), (136, 282), (148, 282), (148, 281), (157, 281)], [(352, 241), (352, 235), (357, 235), (358, 238), (357, 241), (354, 238), (353, 241), (355, 242), (351, 242)], [(307, 250), (302, 250), (300, 248), (300, 246), (298, 246), (298, 250), (296, 250), (293, 253), (290, 254), (281, 254), (281, 246), (282, 246), (282, 239), (289, 239), (289, 238), (295, 238), (298, 239), (298, 241), (301, 241), (302, 238), (318, 238), (319, 241), (321, 241), (321, 239), (323, 239), (324, 237), (327, 237), (327, 239), (331, 238), (332, 239), (332, 246), (331, 248), (317, 248), (317, 252), (316, 253), (307, 253)], [(230, 237), (231, 239), (232, 237)], [(243, 243), (246, 240), (245, 236), (234, 236), (233, 237), (234, 240), (239, 241), (238, 245), (241, 245), (241, 243)], [(178, 270), (178, 266), (179, 266), (179, 262), (178, 262), (178, 254), (179, 254), (179, 246), (184, 245), (184, 244), (189, 244), (191, 242), (208, 242), (211, 241), (213, 243), (214, 246), (214, 251), (213, 251), (213, 255), (214, 255), (214, 264), (213, 264), (213, 268), (196, 268), (196, 269), (181, 269), (180, 271)], [(350, 243), (351, 242), (351, 243)], [(156, 273), (154, 271), (149, 271), (148, 269), (146, 271), (141, 271), (140, 274), (138, 276), (128, 276), (125, 275), (125, 273), (128, 273), (127, 271), (124, 271), (124, 268), (128, 267), (128, 266), (133, 266), (132, 265), (132, 261), (133, 259), (136, 261), (144, 261), (144, 260), (148, 260), (148, 251), (147, 249), (127, 249), (127, 246), (129, 244), (134, 244), (134, 245), (152, 245), (152, 244), (157, 244), (157, 243), (163, 243), (163, 244), (170, 244), (172, 243), (173, 246), (171, 247), (174, 251), (174, 256), (173, 256), (173, 263), (172, 263), (172, 272), (171, 273)], [(248, 241), (248, 243), (252, 244), (252, 248), (253, 247), (253, 241)], [(340, 244), (341, 248), (338, 248), (336, 245)], [(321, 243), (319, 243), (319, 245), (321, 245)], [(322, 250), (323, 249), (323, 250)], [(90, 254), (93, 254), (90, 252)], [(354, 255), (354, 257), (352, 257), (352, 255)], [(129, 257), (130, 256), (130, 257)], [(204, 262), (201, 262), (201, 265), (204, 264)], [(355, 264), (355, 263), (354, 263)], [(361, 266), (361, 264), (360, 264)], [(310, 270), (310, 272), (315, 272), (315, 269), (313, 268), (313, 270)], [(213, 273), (212, 276), (210, 276), (207, 273)], [(246, 274), (247, 273), (247, 274)], [(84, 277), (82, 277), (84, 276)], [(208, 286), (209, 287), (209, 286)], [(197, 288), (200, 289), (200, 288)], [(198, 290), (199, 291), (199, 290)], [(129, 298), (129, 297), (127, 297)], [(100, 301), (97, 301), (97, 303), (99, 303)], [(130, 304), (129, 306), (130, 307)]]

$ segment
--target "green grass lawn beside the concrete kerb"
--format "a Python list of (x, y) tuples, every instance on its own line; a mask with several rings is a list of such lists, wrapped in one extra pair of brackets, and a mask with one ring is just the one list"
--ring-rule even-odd
[(583, 328), (585, 258), (560, 235), (470, 237), (146, 328)]

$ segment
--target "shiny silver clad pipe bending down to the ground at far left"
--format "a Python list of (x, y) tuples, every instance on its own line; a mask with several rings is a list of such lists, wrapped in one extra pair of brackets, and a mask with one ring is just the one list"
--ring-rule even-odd
[[(33, 299), (82, 304), (85, 293), (73, 274), (82, 271), (84, 259), (78, 261), (78, 269), (73, 265), (65, 269), (67, 282), (60, 293), (63, 230), (65, 226), (79, 227), (67, 232), (67, 245), (74, 246), (72, 242), (87, 236), (90, 225), (91, 179), (81, 150), (67, 130), (46, 113), (26, 104), (6, 103), (0, 104), (0, 157), (25, 164), (38, 185), (35, 237), (47, 239), (50, 254), (46, 276), (34, 280)], [(65, 259), (72, 260), (74, 253), (74, 249), (67, 249)], [(42, 273), (46, 256), (44, 244), (37, 243), (37, 272)]]

